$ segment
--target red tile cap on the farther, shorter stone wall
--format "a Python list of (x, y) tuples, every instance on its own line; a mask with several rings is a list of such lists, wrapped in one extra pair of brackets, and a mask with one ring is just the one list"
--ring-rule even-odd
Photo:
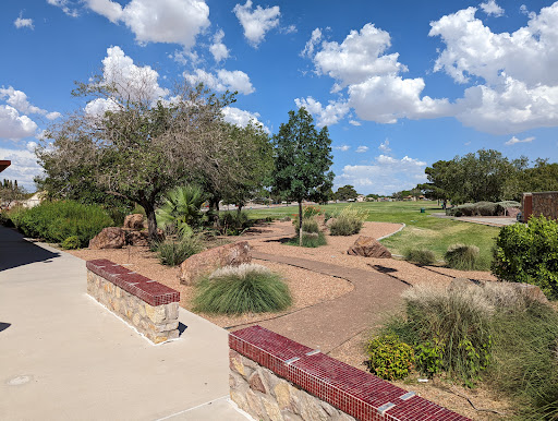
[(179, 291), (136, 274), (107, 258), (87, 261), (85, 266), (94, 274), (141, 298), (150, 305), (180, 302)]

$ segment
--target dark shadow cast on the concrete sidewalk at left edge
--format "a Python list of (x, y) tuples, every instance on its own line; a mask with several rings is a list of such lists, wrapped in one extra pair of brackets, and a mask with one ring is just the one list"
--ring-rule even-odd
[(60, 257), (60, 253), (39, 248), (26, 241), (20, 232), (0, 227), (0, 272), (35, 262), (47, 263), (53, 257)]

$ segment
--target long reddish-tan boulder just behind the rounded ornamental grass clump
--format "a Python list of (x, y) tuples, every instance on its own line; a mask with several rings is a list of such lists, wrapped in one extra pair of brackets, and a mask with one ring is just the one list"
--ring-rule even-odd
[(206, 250), (186, 258), (180, 265), (180, 282), (193, 285), (202, 276), (225, 266), (239, 266), (252, 261), (247, 241), (221, 245)]

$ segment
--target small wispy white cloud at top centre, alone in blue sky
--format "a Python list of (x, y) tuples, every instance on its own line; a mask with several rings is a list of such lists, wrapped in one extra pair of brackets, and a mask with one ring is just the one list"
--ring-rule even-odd
[(281, 12), (278, 5), (253, 9), (252, 0), (246, 0), (244, 5), (236, 4), (232, 10), (240, 24), (244, 28), (244, 36), (248, 43), (258, 47), (264, 40), (266, 33), (279, 25)]

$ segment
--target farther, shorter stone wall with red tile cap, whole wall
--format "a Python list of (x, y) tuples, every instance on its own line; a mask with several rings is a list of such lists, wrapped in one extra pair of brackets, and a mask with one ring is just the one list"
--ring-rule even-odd
[(179, 337), (179, 291), (106, 258), (86, 266), (89, 296), (155, 344)]

